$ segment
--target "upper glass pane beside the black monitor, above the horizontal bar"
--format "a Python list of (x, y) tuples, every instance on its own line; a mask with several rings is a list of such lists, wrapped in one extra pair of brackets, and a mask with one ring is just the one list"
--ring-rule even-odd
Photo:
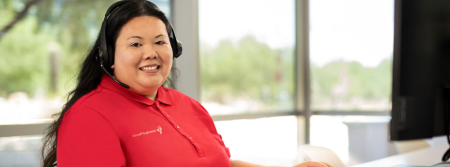
[(311, 108), (389, 111), (393, 0), (310, 1)]

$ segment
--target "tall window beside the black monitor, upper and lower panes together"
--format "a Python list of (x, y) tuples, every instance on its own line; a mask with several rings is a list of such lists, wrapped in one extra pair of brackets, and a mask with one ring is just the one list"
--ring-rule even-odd
[(381, 114), (390, 111), (394, 1), (309, 2), (310, 144), (348, 166), (396, 154)]

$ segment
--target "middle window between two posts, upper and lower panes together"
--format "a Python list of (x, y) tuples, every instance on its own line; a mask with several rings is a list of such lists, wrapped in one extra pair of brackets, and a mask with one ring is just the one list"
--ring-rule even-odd
[(295, 1), (199, 0), (198, 12), (200, 102), (232, 159), (297, 164)]

